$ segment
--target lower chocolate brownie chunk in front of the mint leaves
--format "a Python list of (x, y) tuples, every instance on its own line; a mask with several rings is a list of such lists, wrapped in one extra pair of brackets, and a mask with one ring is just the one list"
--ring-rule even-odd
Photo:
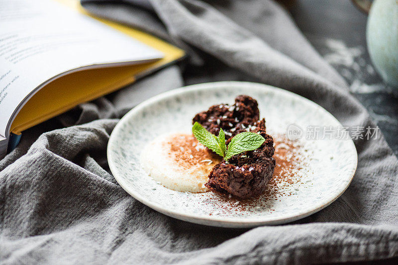
[(266, 133), (265, 120), (257, 123), (252, 131), (261, 134), (265, 141), (256, 150), (222, 160), (211, 170), (205, 184), (212, 191), (228, 192), (242, 199), (262, 194), (275, 169), (274, 140)]

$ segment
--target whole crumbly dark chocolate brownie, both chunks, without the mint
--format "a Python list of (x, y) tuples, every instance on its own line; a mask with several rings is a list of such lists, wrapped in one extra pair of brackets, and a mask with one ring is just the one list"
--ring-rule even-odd
[[(275, 159), (272, 157), (275, 149), (273, 138), (266, 133), (265, 120), (258, 119), (257, 101), (245, 95), (236, 97), (233, 106), (215, 105), (195, 116), (193, 122), (200, 123), (210, 133), (218, 134), (219, 128), (222, 128), (227, 143), (237, 133), (248, 131), (259, 133), (265, 138), (256, 150), (234, 155), (228, 161), (222, 160), (215, 165), (205, 184), (207, 188), (221, 193), (228, 192), (242, 199), (265, 191), (275, 169)], [(231, 120), (235, 123), (232, 124)]]

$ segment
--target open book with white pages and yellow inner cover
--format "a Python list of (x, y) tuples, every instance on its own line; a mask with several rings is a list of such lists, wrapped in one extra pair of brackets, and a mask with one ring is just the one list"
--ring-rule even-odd
[(184, 52), (85, 14), (77, 0), (0, 0), (0, 159), (22, 131)]

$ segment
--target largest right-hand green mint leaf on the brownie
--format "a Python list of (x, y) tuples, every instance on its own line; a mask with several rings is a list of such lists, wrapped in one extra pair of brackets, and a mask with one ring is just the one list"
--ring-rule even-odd
[(245, 132), (236, 134), (228, 144), (225, 159), (245, 151), (255, 150), (260, 147), (265, 138), (257, 133)]

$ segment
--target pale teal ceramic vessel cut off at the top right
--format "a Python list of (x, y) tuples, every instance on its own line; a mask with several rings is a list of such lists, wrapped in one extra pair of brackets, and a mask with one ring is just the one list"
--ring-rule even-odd
[(376, 0), (366, 28), (373, 65), (388, 84), (398, 88), (398, 0)]

